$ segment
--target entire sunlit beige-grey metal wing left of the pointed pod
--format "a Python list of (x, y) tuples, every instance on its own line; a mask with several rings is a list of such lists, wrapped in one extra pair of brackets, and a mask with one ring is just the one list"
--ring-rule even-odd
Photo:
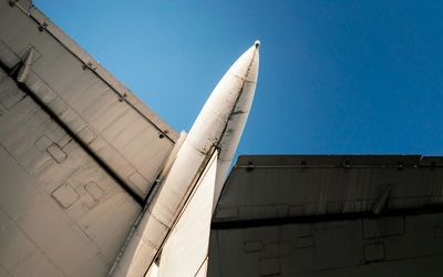
[(0, 1), (0, 276), (104, 276), (177, 133), (30, 1)]

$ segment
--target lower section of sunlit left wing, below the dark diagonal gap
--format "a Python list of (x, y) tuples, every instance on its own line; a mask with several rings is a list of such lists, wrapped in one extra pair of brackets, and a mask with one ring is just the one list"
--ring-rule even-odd
[(0, 70), (2, 276), (105, 276), (140, 205)]

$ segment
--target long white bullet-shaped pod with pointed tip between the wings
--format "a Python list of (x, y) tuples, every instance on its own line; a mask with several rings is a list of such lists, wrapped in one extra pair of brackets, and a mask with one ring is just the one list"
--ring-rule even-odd
[[(164, 245), (166, 236), (177, 223), (214, 150), (222, 147), (220, 151), (234, 155), (235, 148), (224, 147), (236, 147), (236, 143), (222, 144), (222, 142), (226, 135), (234, 137), (229, 141), (239, 138), (245, 126), (246, 117), (244, 117), (245, 121), (238, 122), (231, 119), (236, 116), (238, 106), (245, 109), (245, 114), (249, 113), (248, 109), (251, 105), (258, 74), (258, 45), (259, 43), (256, 42), (248, 49), (214, 89), (179, 147), (158, 192), (148, 203), (148, 208), (136, 227), (134, 237), (124, 249), (122, 258), (113, 267), (113, 276), (144, 275)], [(227, 130), (228, 127), (230, 129)], [(217, 174), (219, 174), (218, 170)], [(220, 176), (216, 177), (215, 191), (217, 179), (222, 179)], [(207, 224), (210, 223), (207, 222)]]

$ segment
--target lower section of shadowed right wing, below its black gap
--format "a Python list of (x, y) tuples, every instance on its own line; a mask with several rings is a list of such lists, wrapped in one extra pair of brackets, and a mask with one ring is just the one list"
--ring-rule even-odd
[[(433, 232), (443, 214), (404, 219), (404, 234), (378, 238), (364, 238), (363, 219), (213, 229), (208, 276), (441, 276), (443, 239)], [(302, 229), (312, 243), (300, 247)], [(262, 242), (262, 249), (244, 252), (250, 239)]]

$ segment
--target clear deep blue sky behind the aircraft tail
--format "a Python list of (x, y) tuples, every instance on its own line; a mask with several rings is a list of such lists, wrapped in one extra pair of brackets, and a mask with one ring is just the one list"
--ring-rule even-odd
[(34, 3), (177, 132), (259, 39), (237, 153), (443, 155), (442, 1)]

